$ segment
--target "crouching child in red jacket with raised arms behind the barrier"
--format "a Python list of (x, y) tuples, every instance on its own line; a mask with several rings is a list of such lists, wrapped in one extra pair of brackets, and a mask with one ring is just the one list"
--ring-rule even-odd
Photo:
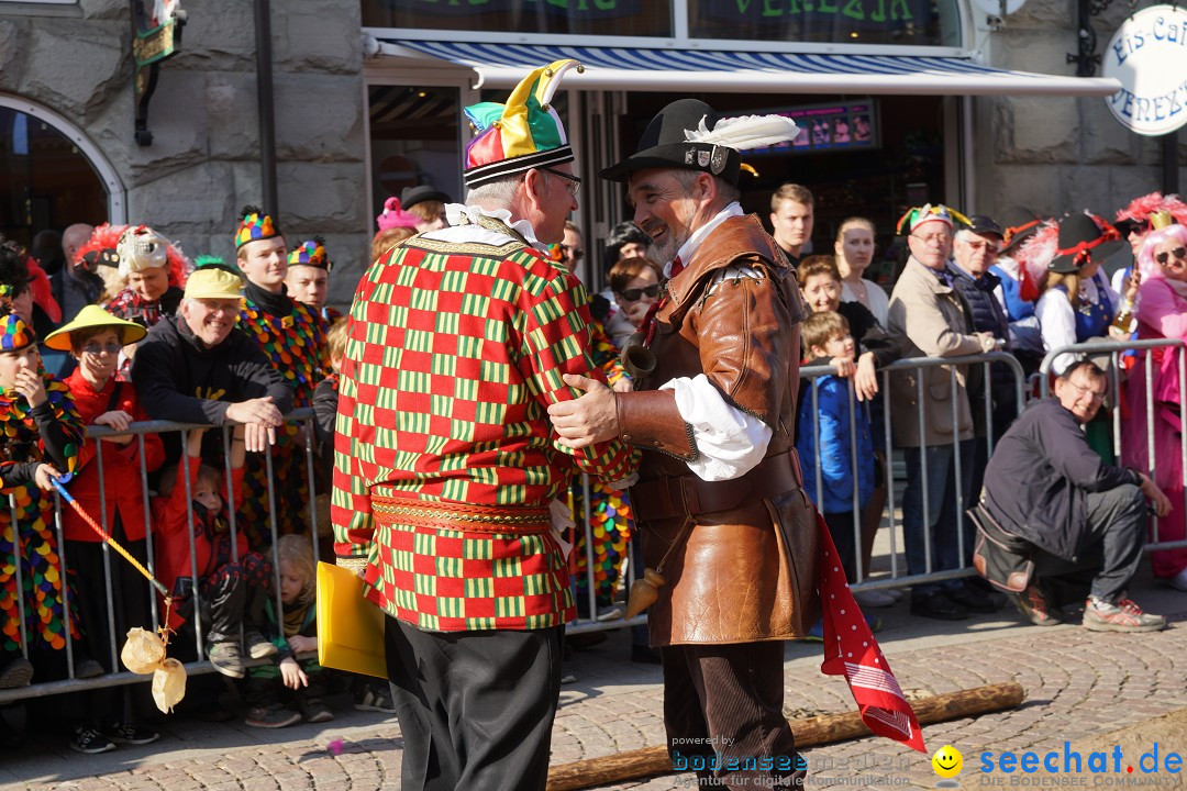
[[(242, 678), (240, 629), (253, 659), (277, 652), (260, 633), (264, 602), (272, 587), (272, 562), (260, 553), (249, 551), (242, 531), (236, 531), (234, 536), (230, 531), (230, 511), (243, 491), (243, 460), (247, 455), (243, 427), (236, 426), (231, 433), (230, 497), (226, 490), (226, 474), (202, 464), (202, 435), (205, 430), (189, 432), (189, 477), (186, 466), (177, 465), (176, 472), (161, 476), (160, 497), (153, 500), (153, 519), (159, 535), (157, 578), (173, 594), (170, 629), (192, 620), (195, 606), (201, 606), (210, 664), (224, 676)], [(193, 554), (190, 553), (191, 511)], [(198, 580), (197, 586), (195, 579)]]

